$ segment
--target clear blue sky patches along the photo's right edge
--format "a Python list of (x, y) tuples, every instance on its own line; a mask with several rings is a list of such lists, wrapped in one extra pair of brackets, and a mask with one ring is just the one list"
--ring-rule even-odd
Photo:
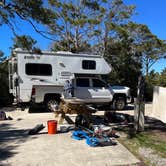
[[(125, 0), (125, 2), (136, 5), (138, 14), (133, 17), (135, 22), (148, 25), (153, 34), (166, 40), (166, 0)], [(166, 59), (162, 59), (151, 69), (160, 72), (165, 67)]]

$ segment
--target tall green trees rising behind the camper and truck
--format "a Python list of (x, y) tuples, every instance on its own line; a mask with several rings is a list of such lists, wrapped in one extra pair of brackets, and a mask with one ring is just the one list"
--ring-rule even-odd
[[(104, 56), (113, 68), (107, 81), (129, 86), (133, 96), (140, 75), (145, 76), (147, 94), (152, 93), (154, 85), (166, 86), (165, 69), (161, 73), (151, 71), (153, 64), (166, 58), (165, 40), (154, 35), (147, 25), (132, 20), (135, 5), (126, 5), (123, 0), (11, 0), (1, 1), (0, 7), (0, 25), (6, 24), (15, 35), (12, 48), (39, 51), (35, 39), (17, 35), (20, 19), (50, 39), (52, 51)], [(45, 31), (38, 24), (45, 26)], [(2, 62), (3, 53), (0, 57)], [(5, 73), (2, 66), (1, 63), (1, 80)]]

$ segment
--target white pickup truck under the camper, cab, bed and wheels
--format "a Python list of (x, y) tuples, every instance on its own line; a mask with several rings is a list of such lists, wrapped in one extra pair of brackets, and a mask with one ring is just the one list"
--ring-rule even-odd
[[(73, 100), (81, 100), (83, 103), (95, 106), (112, 106), (113, 109), (123, 110), (131, 102), (130, 88), (125, 86), (110, 86), (99, 77), (75, 77), (71, 82), (71, 91)], [(48, 110), (58, 108), (60, 98), (64, 94), (64, 87), (57, 87), (58, 94), (51, 94), (56, 87), (33, 86), (35, 92), (32, 95), (33, 103), (44, 104)]]

